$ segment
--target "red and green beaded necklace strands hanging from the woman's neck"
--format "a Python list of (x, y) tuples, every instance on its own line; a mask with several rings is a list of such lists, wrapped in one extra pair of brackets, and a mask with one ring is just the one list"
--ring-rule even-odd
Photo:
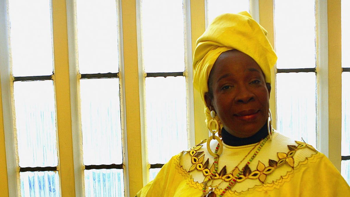
[[(254, 158), (258, 155), (258, 153), (260, 152), (261, 148), (265, 145), (266, 141), (270, 138), (270, 136), (266, 136), (264, 139), (262, 139), (259, 143), (257, 143), (249, 152), (248, 154), (236, 165), (236, 167), (230, 172), (233, 175), (236, 175), (235, 177), (232, 178), (232, 180), (230, 181), (229, 185), (226, 186), (226, 188), (224, 189), (224, 191), (221, 192), (221, 194), (219, 195), (219, 197), (222, 197), (226, 191), (230, 190), (236, 183), (237, 183), (237, 178), (243, 174), (243, 170), (244, 168), (249, 165)], [(219, 150), (220, 144), (218, 144), (215, 148), (215, 154), (217, 153), (217, 151)], [(257, 148), (258, 147), (258, 148)], [(249, 159), (249, 161), (244, 165), (244, 167), (239, 170), (238, 166), (247, 158), (248, 155), (251, 154), (251, 152), (253, 150), (255, 150), (257, 148), (257, 150), (254, 152), (254, 154), (251, 156), (251, 158)], [(207, 192), (207, 184), (210, 180), (213, 179), (213, 177), (215, 176), (215, 174), (218, 171), (218, 159), (219, 157), (214, 157), (214, 170), (211, 172), (210, 174), (210, 178), (208, 179), (208, 181), (206, 181), (204, 183), (203, 186), (203, 195), (202, 196), (206, 196), (206, 197), (216, 197), (216, 194), (214, 193), (214, 188), (215, 187), (208, 187), (209, 191)]]

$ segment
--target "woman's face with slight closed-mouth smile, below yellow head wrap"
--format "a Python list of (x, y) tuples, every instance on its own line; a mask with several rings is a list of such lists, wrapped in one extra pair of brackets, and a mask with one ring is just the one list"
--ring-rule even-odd
[(209, 75), (204, 98), (225, 130), (236, 137), (250, 137), (267, 121), (269, 90), (259, 65), (238, 50), (222, 53)]

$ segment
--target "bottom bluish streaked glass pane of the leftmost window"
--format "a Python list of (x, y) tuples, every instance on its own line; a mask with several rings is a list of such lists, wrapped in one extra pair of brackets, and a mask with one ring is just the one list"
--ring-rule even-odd
[(22, 197), (59, 197), (57, 171), (20, 172)]

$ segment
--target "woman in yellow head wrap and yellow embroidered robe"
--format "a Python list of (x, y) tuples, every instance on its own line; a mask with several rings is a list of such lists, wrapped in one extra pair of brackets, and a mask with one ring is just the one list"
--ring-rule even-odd
[(242, 12), (218, 16), (197, 40), (194, 86), (212, 135), (170, 159), (137, 196), (350, 196), (327, 157), (272, 129), (277, 57), (266, 33)]

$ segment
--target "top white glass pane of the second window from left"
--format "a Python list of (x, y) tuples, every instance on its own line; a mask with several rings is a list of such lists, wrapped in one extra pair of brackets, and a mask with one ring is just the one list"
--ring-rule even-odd
[(116, 0), (76, 0), (79, 72), (119, 71)]

